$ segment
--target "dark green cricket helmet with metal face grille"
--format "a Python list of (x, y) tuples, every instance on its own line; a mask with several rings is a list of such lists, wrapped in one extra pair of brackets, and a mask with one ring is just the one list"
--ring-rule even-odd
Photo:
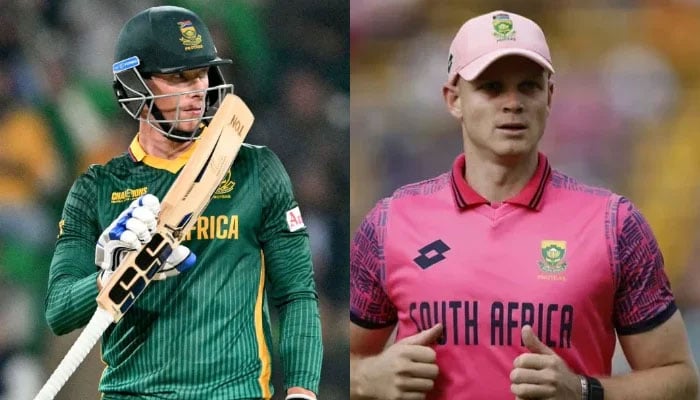
[[(185, 8), (152, 7), (136, 14), (119, 33), (114, 60), (113, 87), (121, 107), (134, 119), (148, 122), (173, 140), (197, 139), (223, 97), (233, 92), (233, 85), (224, 81), (218, 67), (230, 64), (231, 60), (218, 56), (209, 29), (197, 14)], [(155, 100), (193, 92), (156, 96), (145, 80), (153, 74), (171, 74), (203, 67), (209, 67), (209, 88), (205, 93), (203, 116), (197, 118), (202, 123), (192, 132), (176, 129), (179, 122), (195, 119), (180, 118), (179, 99), (175, 117), (166, 119), (156, 107)], [(142, 115), (144, 107), (148, 109), (146, 115)]]

